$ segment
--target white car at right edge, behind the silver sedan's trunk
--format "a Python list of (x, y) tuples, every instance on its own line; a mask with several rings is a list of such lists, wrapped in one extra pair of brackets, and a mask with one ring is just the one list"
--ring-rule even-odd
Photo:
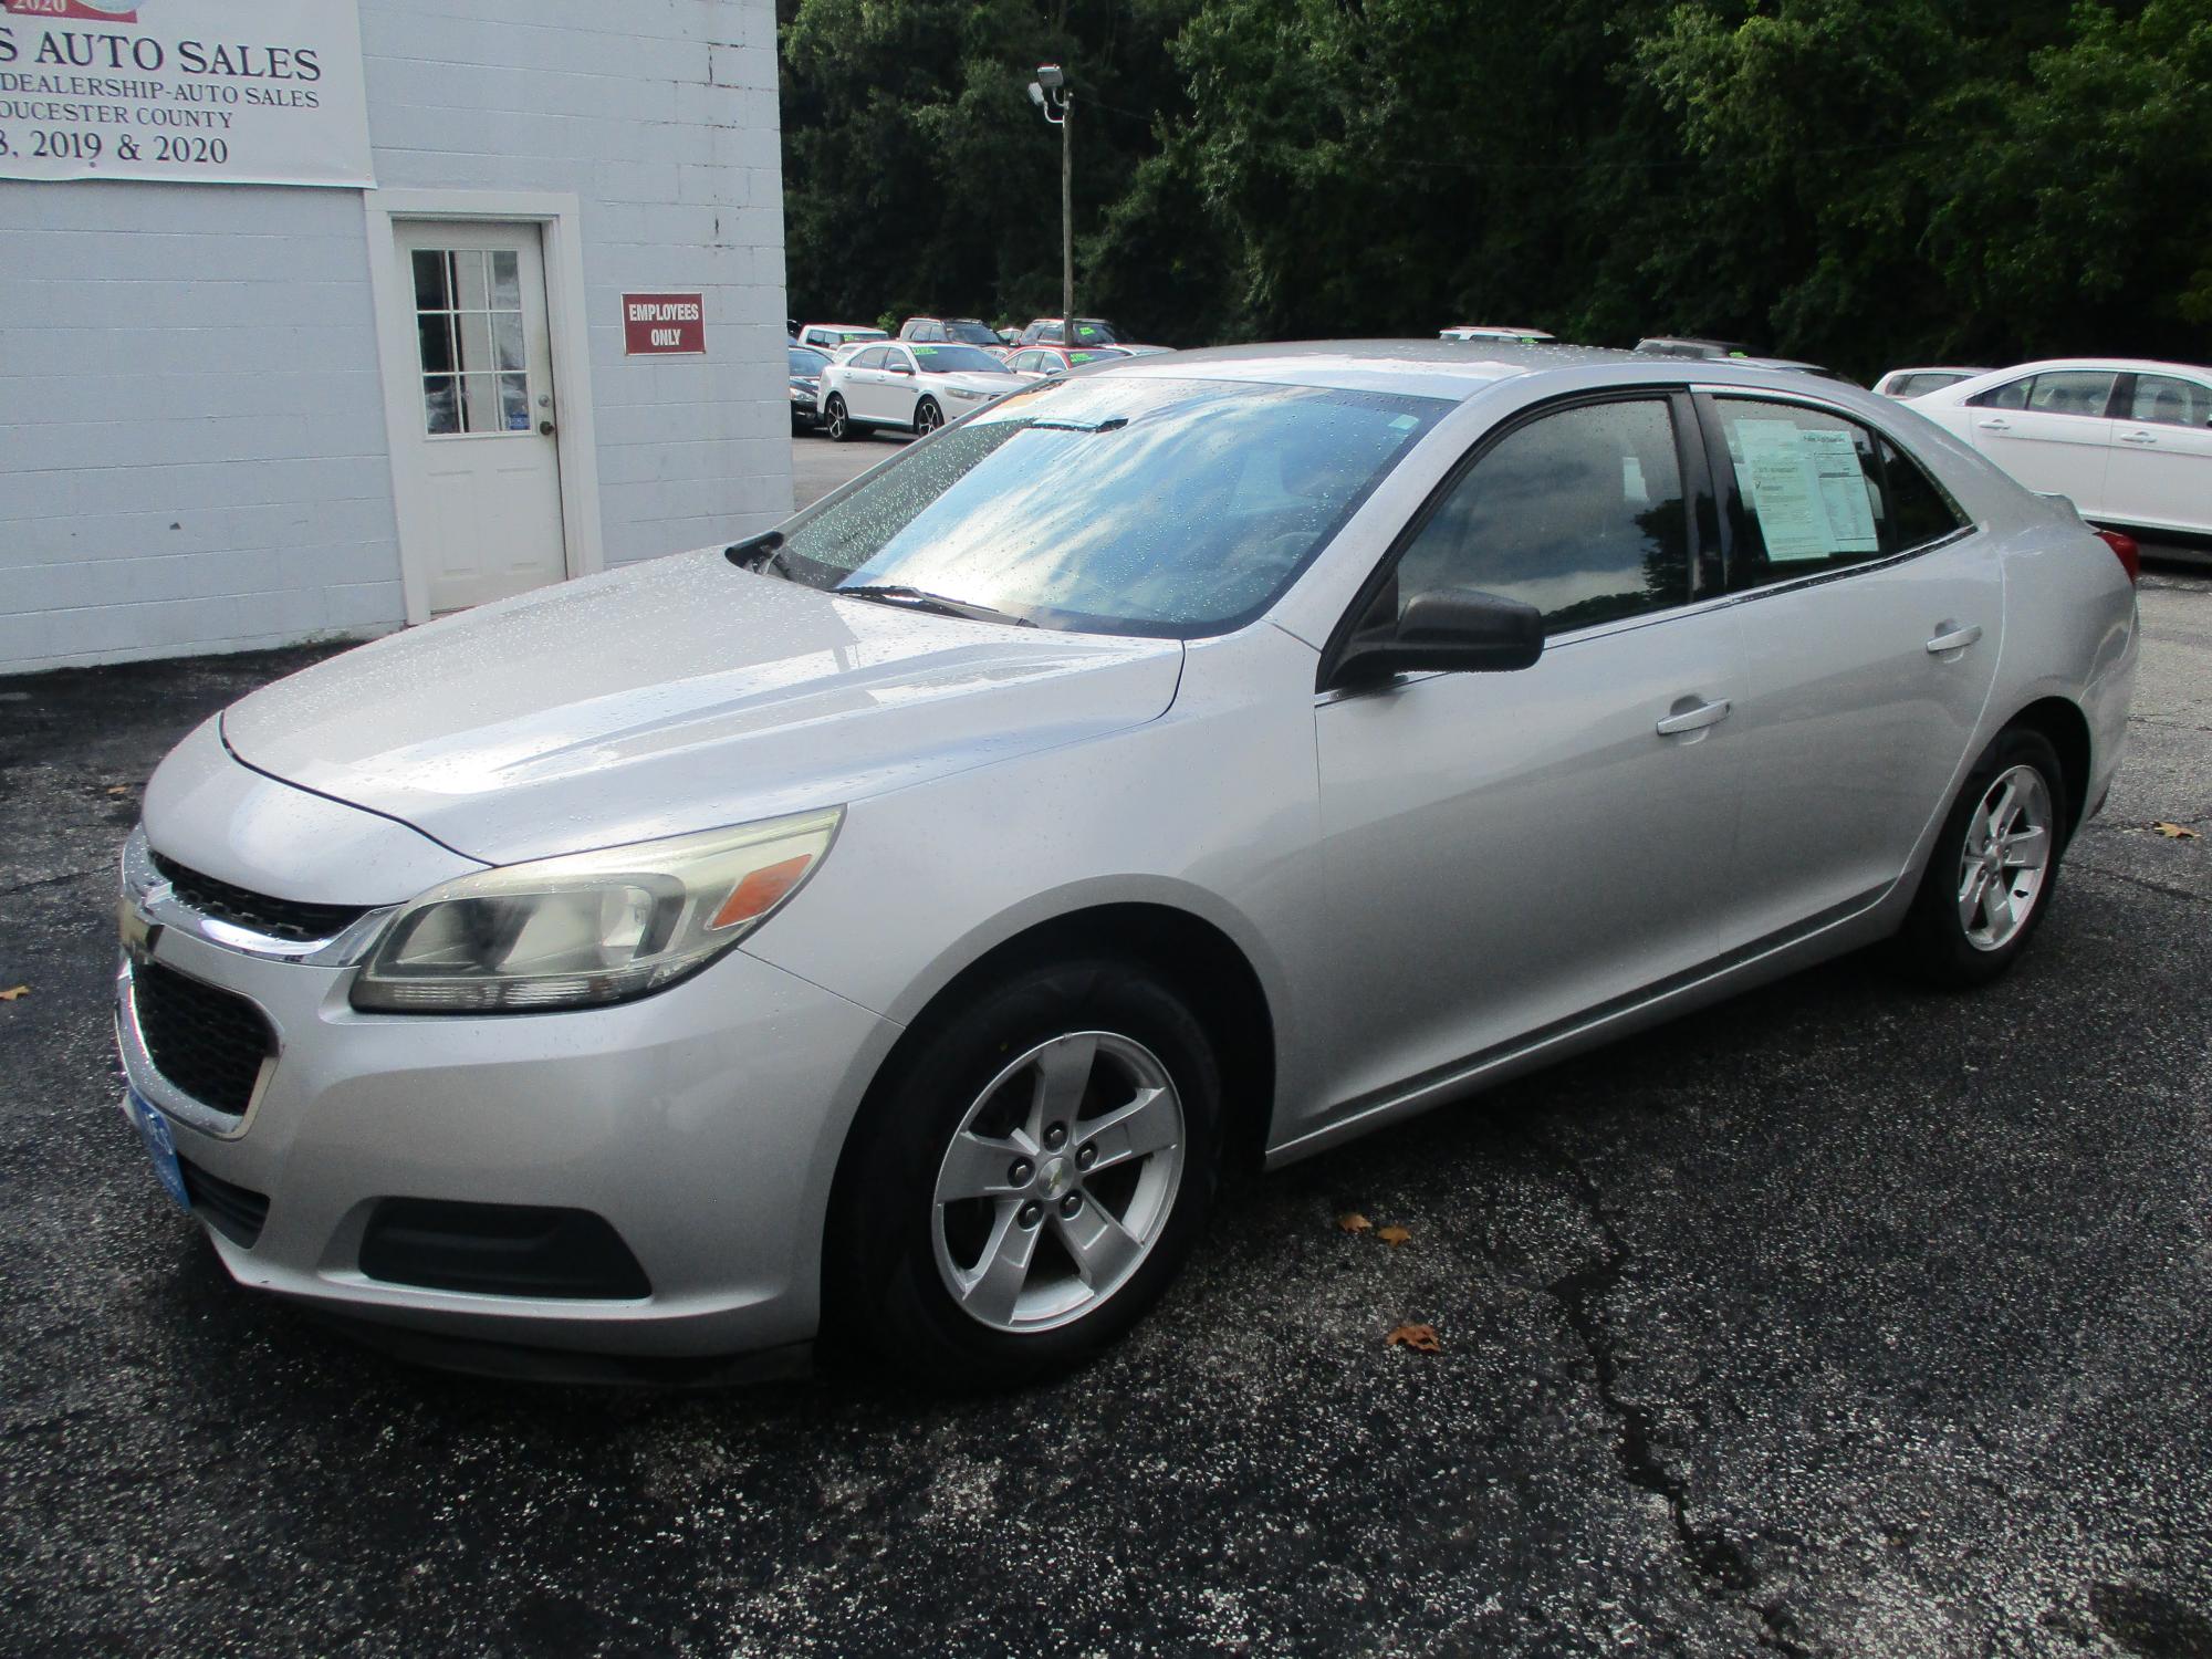
[(2015, 363), (1913, 398), (2081, 518), (2212, 535), (2212, 369), (2137, 358)]

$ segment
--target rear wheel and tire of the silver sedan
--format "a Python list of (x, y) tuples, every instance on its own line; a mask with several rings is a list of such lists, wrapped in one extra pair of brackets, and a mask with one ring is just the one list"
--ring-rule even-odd
[[(1997, 732), (1936, 834), (1920, 891), (1893, 940), (1898, 967), (1938, 987), (1989, 984), (2011, 969), (2051, 911), (2073, 832), (2068, 799), (2051, 739), (2024, 726)], [(1991, 852), (1989, 823), (1997, 812), (2004, 812), (2002, 845)], [(2028, 832), (2037, 838), (2028, 841)], [(2028, 863), (2031, 856), (2042, 863)]]

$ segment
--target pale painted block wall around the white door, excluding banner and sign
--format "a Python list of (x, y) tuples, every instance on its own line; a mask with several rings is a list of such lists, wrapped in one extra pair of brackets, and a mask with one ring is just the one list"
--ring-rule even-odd
[[(770, 0), (361, 0), (376, 177), (582, 201), (606, 564), (790, 511)], [(361, 192), (0, 181), (0, 672), (398, 626)], [(622, 292), (708, 356), (624, 358)], [(564, 389), (566, 394), (566, 389)]]

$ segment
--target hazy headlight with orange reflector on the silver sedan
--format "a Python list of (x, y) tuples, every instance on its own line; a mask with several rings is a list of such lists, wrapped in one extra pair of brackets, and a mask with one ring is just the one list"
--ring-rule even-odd
[(507, 865), (431, 887), (354, 980), (378, 1013), (582, 1009), (697, 973), (799, 891), (843, 807)]

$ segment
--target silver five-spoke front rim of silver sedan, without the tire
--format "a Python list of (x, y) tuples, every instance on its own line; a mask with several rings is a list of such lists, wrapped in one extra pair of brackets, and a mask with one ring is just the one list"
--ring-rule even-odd
[(938, 1166), (931, 1245), (953, 1303), (998, 1332), (1097, 1310), (1159, 1243), (1183, 1179), (1183, 1102), (1159, 1055), (1073, 1031), (1006, 1064)]

